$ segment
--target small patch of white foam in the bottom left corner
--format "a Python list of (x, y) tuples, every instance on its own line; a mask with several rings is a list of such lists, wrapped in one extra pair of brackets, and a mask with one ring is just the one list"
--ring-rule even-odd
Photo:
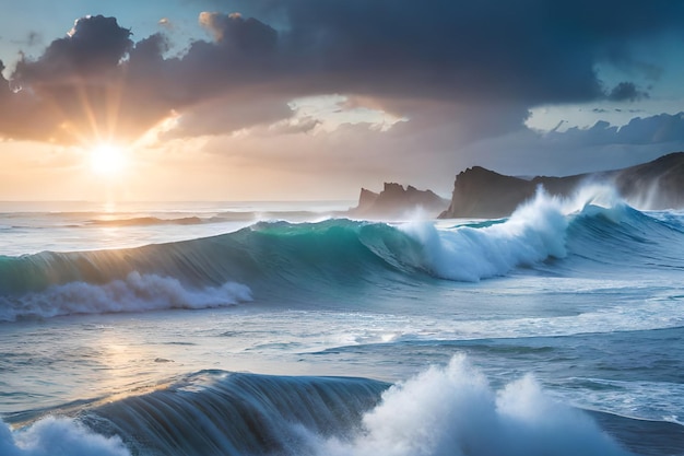
[(130, 456), (117, 436), (95, 434), (67, 418), (48, 417), (27, 429), (12, 431), (0, 421), (2, 456)]

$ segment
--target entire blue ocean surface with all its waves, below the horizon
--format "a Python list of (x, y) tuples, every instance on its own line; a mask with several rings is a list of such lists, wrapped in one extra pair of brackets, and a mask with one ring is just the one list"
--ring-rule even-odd
[(0, 455), (684, 455), (684, 212), (0, 203)]

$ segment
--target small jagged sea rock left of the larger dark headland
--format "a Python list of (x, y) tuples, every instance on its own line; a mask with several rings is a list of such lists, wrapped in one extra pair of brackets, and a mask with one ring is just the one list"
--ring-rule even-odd
[(379, 194), (362, 188), (358, 206), (350, 209), (349, 214), (367, 219), (401, 219), (411, 212), (423, 210), (427, 217), (435, 218), (448, 203), (448, 200), (431, 190), (418, 190), (413, 186), (404, 188), (400, 184), (385, 183)]

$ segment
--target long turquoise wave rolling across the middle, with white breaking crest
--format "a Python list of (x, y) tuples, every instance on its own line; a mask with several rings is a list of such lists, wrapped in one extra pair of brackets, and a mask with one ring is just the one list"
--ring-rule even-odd
[(681, 217), (639, 212), (602, 191), (562, 200), (540, 190), (508, 219), (446, 227), (259, 222), (139, 248), (3, 256), (0, 320), (211, 307), (246, 301), (244, 290), (262, 303), (315, 302), (309, 297), (436, 279), (476, 282), (526, 268), (554, 274), (684, 270)]

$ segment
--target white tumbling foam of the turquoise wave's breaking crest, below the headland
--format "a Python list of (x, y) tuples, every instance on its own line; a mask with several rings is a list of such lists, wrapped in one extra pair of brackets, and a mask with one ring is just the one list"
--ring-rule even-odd
[(410, 223), (403, 230), (424, 247), (425, 267), (438, 277), (477, 281), (504, 276), (550, 256), (566, 256), (568, 220), (564, 204), (540, 188), (505, 222), (487, 227), (460, 226), (439, 231), (432, 223)]

